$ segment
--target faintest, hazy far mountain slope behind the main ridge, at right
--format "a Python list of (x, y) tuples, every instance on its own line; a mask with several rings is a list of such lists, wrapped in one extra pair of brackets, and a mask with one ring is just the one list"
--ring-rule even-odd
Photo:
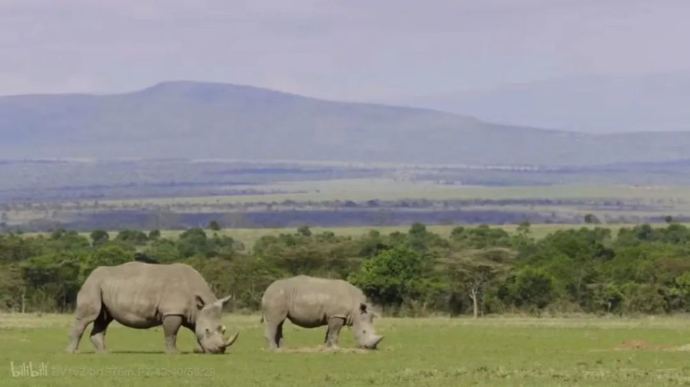
[(575, 132), (690, 131), (690, 73), (556, 79), (395, 102)]

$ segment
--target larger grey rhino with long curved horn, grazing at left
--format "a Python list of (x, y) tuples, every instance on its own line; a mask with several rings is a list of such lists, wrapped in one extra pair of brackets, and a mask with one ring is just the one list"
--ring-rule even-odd
[(186, 264), (127, 262), (101, 266), (90, 273), (79, 290), (67, 351), (77, 351), (84, 329), (93, 322), (91, 342), (97, 352), (106, 352), (106, 328), (116, 320), (130, 328), (163, 325), (167, 353), (177, 353), (180, 326), (197, 336), (196, 351), (224, 353), (239, 335), (227, 340), (224, 337), (221, 311), (229, 300), (229, 296), (218, 300), (201, 274)]

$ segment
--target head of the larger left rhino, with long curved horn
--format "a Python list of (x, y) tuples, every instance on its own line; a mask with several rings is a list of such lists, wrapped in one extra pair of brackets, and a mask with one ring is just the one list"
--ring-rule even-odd
[(197, 342), (204, 353), (225, 353), (226, 348), (233, 345), (238, 333), (229, 339), (225, 338), (225, 326), (221, 322), (223, 306), (232, 296), (221, 298), (216, 302), (205, 304), (201, 297), (197, 297), (197, 322), (195, 333)]

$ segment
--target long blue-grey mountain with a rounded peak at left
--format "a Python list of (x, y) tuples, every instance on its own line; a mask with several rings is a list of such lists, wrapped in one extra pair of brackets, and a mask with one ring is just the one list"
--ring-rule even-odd
[(217, 83), (0, 98), (0, 158), (597, 165), (677, 160), (689, 147), (690, 133), (557, 132)]

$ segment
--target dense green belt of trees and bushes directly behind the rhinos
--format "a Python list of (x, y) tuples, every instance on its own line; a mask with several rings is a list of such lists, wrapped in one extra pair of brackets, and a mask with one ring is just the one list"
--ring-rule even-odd
[(95, 267), (139, 260), (190, 264), (217, 294), (235, 295), (233, 308), (252, 311), (270, 282), (297, 274), (349, 280), (386, 314), (690, 311), (690, 229), (682, 224), (615, 236), (569, 229), (540, 240), (526, 222), (512, 234), (457, 227), (449, 238), (420, 223), (358, 238), (300, 227), (251, 249), (218, 231), (211, 222), (174, 239), (157, 230), (0, 234), (0, 309), (70, 311)]

